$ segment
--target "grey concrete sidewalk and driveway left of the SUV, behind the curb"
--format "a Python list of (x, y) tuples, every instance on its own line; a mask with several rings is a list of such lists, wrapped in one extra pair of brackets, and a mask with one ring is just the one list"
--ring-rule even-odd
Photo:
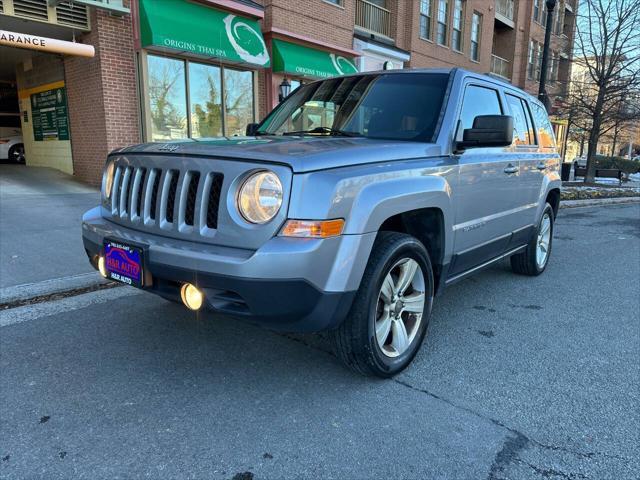
[(94, 272), (80, 219), (99, 200), (57, 170), (0, 165), (0, 290)]

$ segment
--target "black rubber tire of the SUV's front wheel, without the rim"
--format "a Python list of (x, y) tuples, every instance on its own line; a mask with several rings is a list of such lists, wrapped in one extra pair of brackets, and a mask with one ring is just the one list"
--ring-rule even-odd
[[(403, 258), (415, 260), (424, 278), (425, 302), (422, 320), (409, 347), (397, 357), (385, 355), (375, 336), (376, 312), (382, 282)], [(363, 375), (392, 377), (413, 360), (424, 339), (433, 305), (433, 268), (425, 247), (403, 233), (380, 232), (349, 315), (329, 333), (336, 354), (352, 370)]]

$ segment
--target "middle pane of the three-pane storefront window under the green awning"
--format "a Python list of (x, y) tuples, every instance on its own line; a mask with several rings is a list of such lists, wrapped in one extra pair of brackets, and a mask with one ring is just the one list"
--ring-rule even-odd
[(189, 95), (191, 98), (191, 136), (222, 135), (222, 84), (220, 68), (189, 63)]

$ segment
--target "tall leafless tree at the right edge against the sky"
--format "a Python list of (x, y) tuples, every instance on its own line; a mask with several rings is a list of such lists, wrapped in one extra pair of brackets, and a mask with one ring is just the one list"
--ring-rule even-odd
[(574, 56), (589, 83), (574, 87), (571, 101), (589, 123), (585, 182), (592, 182), (598, 140), (640, 82), (640, 0), (582, 0)]

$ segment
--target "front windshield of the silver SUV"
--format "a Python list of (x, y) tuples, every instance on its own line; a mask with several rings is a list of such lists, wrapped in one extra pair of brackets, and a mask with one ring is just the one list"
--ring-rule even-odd
[(349, 135), (432, 141), (449, 75), (380, 74), (333, 78), (297, 89), (258, 135)]

